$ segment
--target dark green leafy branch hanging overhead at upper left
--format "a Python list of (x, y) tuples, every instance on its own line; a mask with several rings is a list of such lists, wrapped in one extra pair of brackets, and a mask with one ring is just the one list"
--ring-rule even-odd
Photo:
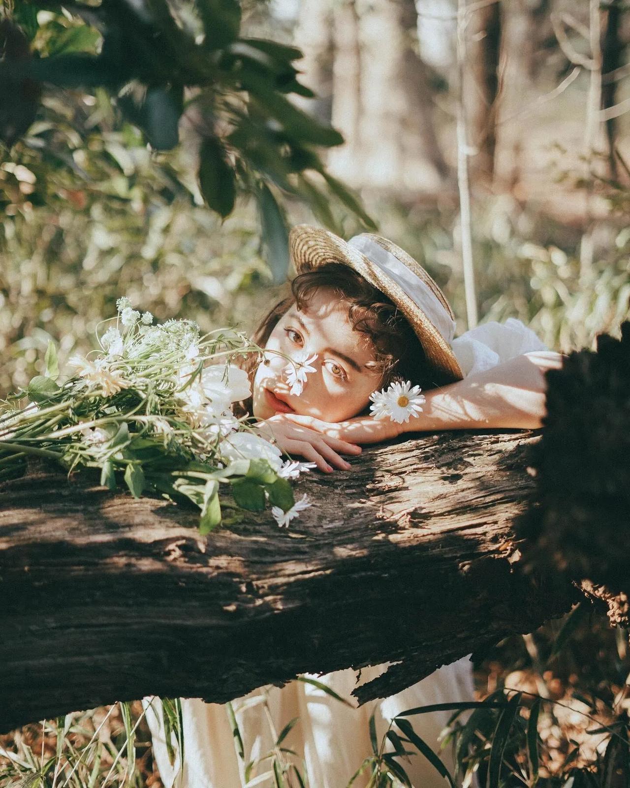
[[(291, 101), (292, 95), (313, 97), (299, 81), (296, 61), (302, 52), (240, 37), (239, 0), (195, 0), (186, 9), (172, 0), (71, 3), (46, 20), (28, 3), (17, 6), (17, 24), (3, 20), (0, 25), (0, 139), (13, 144), (28, 131), (42, 109), (40, 85), (83, 90), (93, 94), (91, 99), (97, 94), (99, 102), (109, 94), (113, 110), (103, 105), (95, 117), (108, 115), (108, 131), (120, 121), (135, 126), (156, 151), (180, 143), (186, 113), (189, 135), (201, 138), (198, 181), (206, 205), (227, 217), (239, 192), (258, 199), (263, 246), (276, 283), (288, 267), (281, 207), (287, 196), (313, 204), (317, 218), (337, 232), (344, 211), (373, 229), (358, 199), (325, 172), (317, 150), (339, 145), (343, 137)], [(76, 94), (65, 96), (68, 102), (79, 100)], [(91, 118), (88, 123), (77, 129), (86, 140), (94, 131)], [(169, 169), (164, 158), (154, 158), (154, 165)], [(171, 168), (166, 180), (177, 180), (190, 194), (189, 173)], [(176, 184), (169, 186), (175, 190)], [(331, 195), (342, 208), (339, 217), (328, 205)]]

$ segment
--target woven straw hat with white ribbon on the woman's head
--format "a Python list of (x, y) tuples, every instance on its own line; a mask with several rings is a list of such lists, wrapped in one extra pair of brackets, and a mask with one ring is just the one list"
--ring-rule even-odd
[(360, 273), (410, 322), (428, 362), (442, 373), (439, 385), (464, 377), (450, 347), (455, 330), (453, 310), (437, 284), (404, 249), (369, 232), (344, 241), (334, 232), (311, 225), (291, 229), (289, 249), (298, 273), (329, 262), (341, 262)]

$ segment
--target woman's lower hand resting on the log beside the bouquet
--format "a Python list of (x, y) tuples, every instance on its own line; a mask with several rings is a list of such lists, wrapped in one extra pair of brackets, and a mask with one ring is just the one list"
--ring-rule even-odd
[[(304, 420), (304, 423), (298, 421)], [(350, 470), (352, 467), (339, 454), (361, 454), (361, 447), (349, 443), (340, 437), (335, 437), (323, 429), (316, 429), (309, 426), (308, 416), (296, 416), (291, 413), (276, 413), (271, 418), (265, 418), (264, 422), (259, 422), (258, 427), (261, 436), (273, 438), (278, 448), (288, 455), (299, 455), (315, 463), (320, 470), (332, 473), (332, 466), (341, 470)], [(313, 419), (320, 425), (327, 427), (337, 427), (336, 424), (320, 422)]]

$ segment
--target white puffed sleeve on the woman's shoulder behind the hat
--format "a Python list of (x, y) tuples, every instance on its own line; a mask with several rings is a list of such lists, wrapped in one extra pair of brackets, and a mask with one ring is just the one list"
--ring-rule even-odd
[(451, 347), (464, 377), (478, 375), (523, 353), (549, 349), (516, 318), (477, 325), (453, 340)]

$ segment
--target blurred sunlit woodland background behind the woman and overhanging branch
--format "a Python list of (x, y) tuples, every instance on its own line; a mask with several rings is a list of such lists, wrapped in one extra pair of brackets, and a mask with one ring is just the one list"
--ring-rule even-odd
[[(516, 316), (551, 348), (587, 346), (628, 314), (630, 13), (621, 2), (477, 2), (458, 29), (457, 12), (455, 0), (250, 2), (242, 31), (302, 48), (296, 65), (317, 99), (298, 102), (346, 140), (325, 155), (329, 172), (443, 286), (459, 331), (463, 153), (480, 319)], [(54, 54), (76, 22), (37, 13), (33, 46)], [(98, 48), (98, 33), (74, 46)], [(3, 149), (0, 394), (42, 370), (49, 338), (61, 364), (93, 347), (117, 296), (202, 329), (250, 329), (276, 298), (254, 201), (237, 199), (224, 221), (203, 206), (194, 122), (184, 113), (182, 145), (156, 153), (102, 88), (58, 88)], [(285, 206), (289, 224), (361, 231), (326, 200)]]

